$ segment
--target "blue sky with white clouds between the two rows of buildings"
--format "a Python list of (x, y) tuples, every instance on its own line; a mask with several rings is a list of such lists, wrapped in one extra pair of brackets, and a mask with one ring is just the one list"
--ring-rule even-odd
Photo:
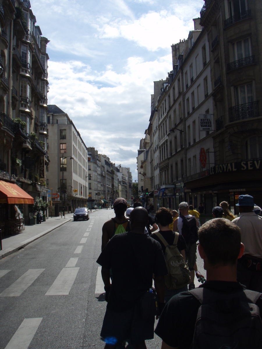
[(153, 81), (172, 70), (171, 45), (194, 29), (203, 0), (30, 0), (50, 42), (48, 104), (87, 147), (130, 167), (149, 124)]

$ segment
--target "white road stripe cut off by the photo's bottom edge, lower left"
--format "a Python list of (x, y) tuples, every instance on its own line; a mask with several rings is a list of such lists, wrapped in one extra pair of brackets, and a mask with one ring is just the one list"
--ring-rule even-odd
[(24, 319), (5, 349), (27, 349), (43, 318)]

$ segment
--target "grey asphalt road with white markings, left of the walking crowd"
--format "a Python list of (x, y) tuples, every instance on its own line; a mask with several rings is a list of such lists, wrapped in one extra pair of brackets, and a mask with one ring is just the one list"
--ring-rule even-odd
[[(103, 348), (106, 308), (96, 259), (114, 211), (69, 222), (0, 261), (0, 349)], [(204, 272), (198, 255), (198, 270)], [(155, 336), (147, 348), (160, 348)]]

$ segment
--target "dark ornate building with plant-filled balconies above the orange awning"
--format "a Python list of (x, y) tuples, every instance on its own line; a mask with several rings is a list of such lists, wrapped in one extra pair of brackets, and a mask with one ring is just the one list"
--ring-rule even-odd
[[(46, 200), (49, 40), (36, 25), (30, 1), (1, 3), (1, 176), (11, 176), (33, 198)], [(28, 205), (20, 209), (28, 223)]]

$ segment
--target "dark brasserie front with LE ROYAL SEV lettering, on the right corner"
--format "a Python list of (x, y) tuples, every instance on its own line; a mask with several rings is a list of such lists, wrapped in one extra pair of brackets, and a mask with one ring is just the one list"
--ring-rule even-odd
[(239, 195), (249, 194), (257, 206), (262, 205), (262, 159), (212, 166), (186, 178), (185, 193), (189, 204), (198, 209), (203, 203), (205, 214), (211, 214), (212, 208), (226, 201), (233, 214), (239, 214)]

